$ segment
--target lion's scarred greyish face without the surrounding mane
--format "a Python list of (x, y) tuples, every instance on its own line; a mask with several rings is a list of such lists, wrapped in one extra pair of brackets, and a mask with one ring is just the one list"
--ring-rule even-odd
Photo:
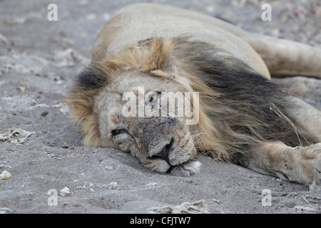
[(168, 106), (161, 105), (162, 94), (177, 90), (166, 78), (135, 72), (117, 76), (94, 99), (103, 144), (130, 152), (151, 170), (180, 176), (198, 172), (185, 116), (170, 117)]

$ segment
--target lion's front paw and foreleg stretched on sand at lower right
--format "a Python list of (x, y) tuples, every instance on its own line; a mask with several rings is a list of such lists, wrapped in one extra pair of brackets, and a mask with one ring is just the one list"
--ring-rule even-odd
[(320, 191), (321, 143), (308, 147), (289, 147), (280, 141), (263, 142), (248, 152), (246, 167)]

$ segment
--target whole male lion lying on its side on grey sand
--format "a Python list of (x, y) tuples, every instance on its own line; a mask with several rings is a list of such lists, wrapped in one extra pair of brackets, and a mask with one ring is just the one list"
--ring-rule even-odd
[[(270, 73), (321, 78), (320, 49), (193, 11), (134, 4), (104, 26), (92, 57), (66, 100), (84, 145), (116, 147), (181, 176), (199, 171), (200, 151), (321, 189), (321, 113), (270, 81)], [(198, 92), (190, 99), (198, 123), (123, 114), (126, 93), (161, 113), (164, 92)]]

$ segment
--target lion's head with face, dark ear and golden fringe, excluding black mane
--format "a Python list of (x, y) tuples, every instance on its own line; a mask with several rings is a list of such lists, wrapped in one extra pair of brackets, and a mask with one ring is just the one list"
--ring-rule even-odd
[[(86, 146), (130, 152), (158, 172), (182, 176), (198, 172), (200, 162), (195, 155), (200, 129), (197, 123), (186, 125), (185, 115), (177, 115), (182, 102), (177, 94), (190, 95), (186, 92), (191, 88), (188, 78), (176, 74), (177, 63), (170, 57), (172, 44), (157, 38), (142, 41), (92, 63), (78, 75), (66, 101), (74, 106), (73, 118), (81, 126)], [(161, 103), (171, 93), (175, 107), (169, 100)], [(193, 109), (196, 98), (193, 94), (188, 98)]]

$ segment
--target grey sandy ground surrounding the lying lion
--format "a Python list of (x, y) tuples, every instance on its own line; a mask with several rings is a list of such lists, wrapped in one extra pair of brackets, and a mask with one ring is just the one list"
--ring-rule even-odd
[[(147, 213), (201, 199), (210, 213), (320, 212), (321, 195), (306, 186), (203, 155), (200, 174), (174, 177), (151, 172), (119, 150), (83, 147), (61, 99), (90, 61), (103, 24), (132, 2), (0, 1), (0, 174), (11, 173), (9, 180), (0, 180), (0, 213)], [(153, 2), (321, 47), (317, 0), (264, 1), (272, 6), (272, 21), (261, 19), (263, 1)], [(58, 6), (58, 21), (47, 19), (50, 3)], [(307, 92), (320, 91), (320, 80), (311, 84)], [(320, 93), (303, 95), (320, 108)], [(64, 187), (73, 195), (62, 197)], [(265, 189), (272, 193), (270, 207), (262, 204)], [(48, 192), (55, 190), (58, 197), (52, 198)]]

